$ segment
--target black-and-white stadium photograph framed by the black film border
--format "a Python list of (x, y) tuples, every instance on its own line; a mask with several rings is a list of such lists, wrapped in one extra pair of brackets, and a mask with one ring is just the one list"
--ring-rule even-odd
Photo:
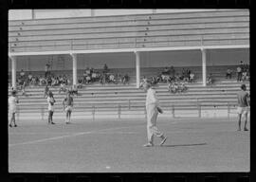
[(9, 9), (9, 173), (249, 173), (249, 9)]

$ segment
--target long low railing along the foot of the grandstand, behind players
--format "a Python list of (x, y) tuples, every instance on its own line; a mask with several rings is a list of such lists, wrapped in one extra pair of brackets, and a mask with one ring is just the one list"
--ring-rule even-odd
[[(163, 103), (161, 107), (164, 110), (163, 116), (172, 118), (204, 118), (204, 117), (224, 117), (231, 118), (230, 114), (236, 114), (235, 102), (224, 102), (223, 104), (209, 104), (200, 102), (198, 100), (185, 103)], [(57, 106), (55, 109), (55, 116), (64, 116), (61, 106)], [(47, 112), (46, 106), (39, 106), (38, 108), (31, 109), (17, 107), (17, 120), (20, 118), (26, 118), (26, 114), (29, 114), (32, 118), (45, 119)], [(87, 107), (74, 106), (73, 117), (89, 117), (95, 120), (100, 116), (111, 116), (117, 118), (124, 118), (125, 116), (142, 116), (146, 118), (145, 103), (136, 102), (136, 100), (127, 100), (126, 103), (101, 103), (92, 104)], [(28, 115), (28, 117), (29, 117)], [(236, 115), (235, 115), (236, 116)]]

